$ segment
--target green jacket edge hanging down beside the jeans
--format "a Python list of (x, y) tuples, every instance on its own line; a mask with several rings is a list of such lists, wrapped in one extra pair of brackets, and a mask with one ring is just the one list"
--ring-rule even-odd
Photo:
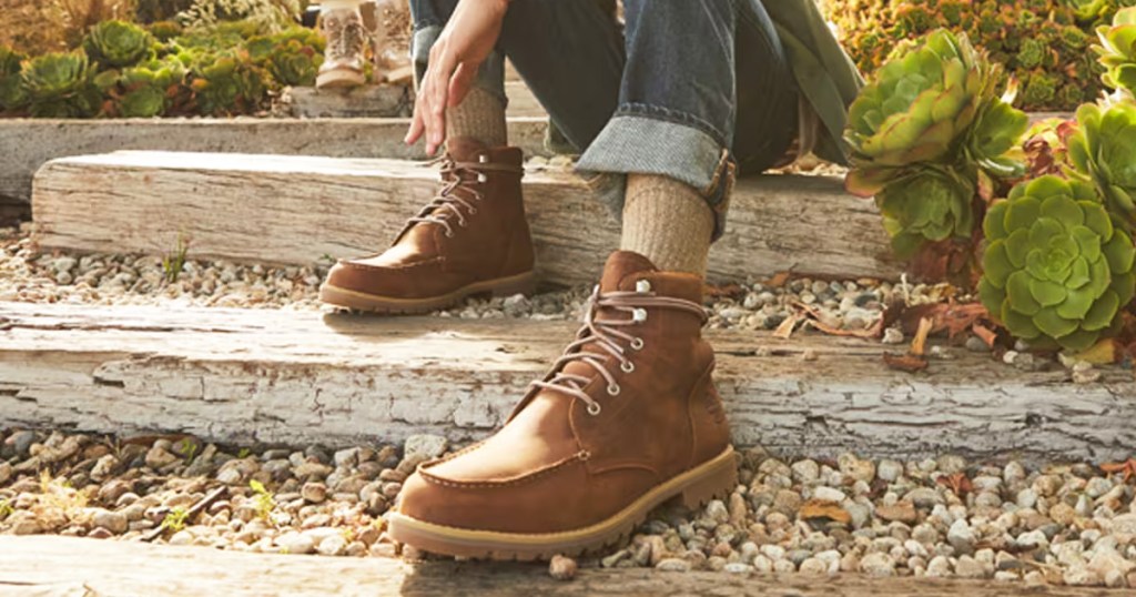
[(801, 93), (821, 122), (813, 152), (836, 164), (847, 164), (844, 126), (847, 108), (863, 78), (836, 41), (815, 0), (762, 0)]

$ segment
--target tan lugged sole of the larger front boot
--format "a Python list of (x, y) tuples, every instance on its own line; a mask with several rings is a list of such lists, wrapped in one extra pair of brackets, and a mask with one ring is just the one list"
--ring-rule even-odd
[(629, 537), (660, 504), (679, 498), (686, 507), (699, 508), (737, 487), (734, 448), (674, 479), (657, 486), (616, 515), (591, 526), (571, 531), (526, 534), (456, 529), (432, 524), (392, 512), (389, 533), (399, 542), (433, 554), (477, 559), (548, 559), (561, 554), (577, 556)]

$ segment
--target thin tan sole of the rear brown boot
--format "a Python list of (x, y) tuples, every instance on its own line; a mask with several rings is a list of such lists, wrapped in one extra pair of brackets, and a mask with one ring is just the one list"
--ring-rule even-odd
[(412, 315), (449, 308), (474, 295), (491, 293), (501, 297), (517, 293), (532, 295), (535, 291), (536, 273), (526, 272), (508, 277), (475, 282), (446, 295), (420, 299), (381, 297), (324, 283), (319, 287), (319, 300), (336, 307), (368, 313)]

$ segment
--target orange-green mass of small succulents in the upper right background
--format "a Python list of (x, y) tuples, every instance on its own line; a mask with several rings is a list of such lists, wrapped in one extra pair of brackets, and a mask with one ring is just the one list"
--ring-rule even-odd
[[(1127, 1), (1127, 0), (1125, 0)], [(1109, 1), (1110, 7), (1113, 0)], [(1100, 92), (1101, 66), (1088, 52), (1092, 25), (1074, 0), (846, 0), (827, 2), (829, 18), (869, 76), (905, 40), (945, 27), (966, 33), (1005, 66), (1000, 82), (1021, 82), (1021, 108), (1075, 109)], [(1085, 8), (1085, 10), (1089, 10)], [(1109, 8), (1103, 14), (1110, 14)]]

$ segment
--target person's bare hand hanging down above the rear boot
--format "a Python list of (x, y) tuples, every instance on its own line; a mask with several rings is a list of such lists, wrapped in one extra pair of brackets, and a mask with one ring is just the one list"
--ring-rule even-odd
[(461, 103), (498, 38), (509, 0), (460, 0), (429, 51), (406, 142), (426, 134), (426, 154), (445, 141), (445, 108)]

